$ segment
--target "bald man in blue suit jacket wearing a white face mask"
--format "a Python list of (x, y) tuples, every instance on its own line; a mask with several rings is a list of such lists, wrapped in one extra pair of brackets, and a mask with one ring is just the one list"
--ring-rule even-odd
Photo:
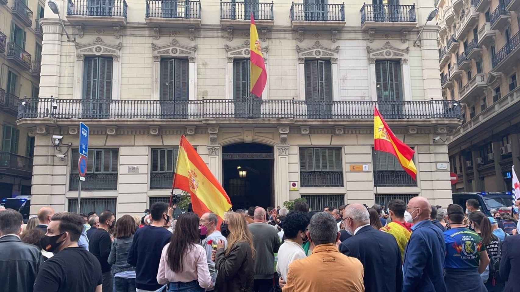
[(406, 206), (414, 225), (405, 250), (403, 292), (446, 292), (443, 268), (446, 246), (444, 234), (430, 220), (432, 205), (424, 197), (414, 197)]

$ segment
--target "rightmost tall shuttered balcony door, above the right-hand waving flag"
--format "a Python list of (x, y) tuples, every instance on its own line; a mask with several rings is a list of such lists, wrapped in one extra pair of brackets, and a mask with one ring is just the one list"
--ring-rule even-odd
[(376, 94), (379, 111), (392, 118), (402, 113), (401, 67), (398, 61), (375, 62)]

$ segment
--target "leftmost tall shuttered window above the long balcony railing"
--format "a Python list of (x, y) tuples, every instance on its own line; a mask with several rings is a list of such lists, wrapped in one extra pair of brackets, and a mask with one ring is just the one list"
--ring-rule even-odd
[(83, 98), (86, 100), (112, 99), (112, 58), (85, 59)]

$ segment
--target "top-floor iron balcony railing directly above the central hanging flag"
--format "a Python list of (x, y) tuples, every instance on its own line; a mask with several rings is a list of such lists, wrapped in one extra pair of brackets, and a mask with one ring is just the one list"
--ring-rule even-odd
[(222, 2), (220, 1), (220, 19), (250, 20), (251, 13), (255, 20), (274, 20), (274, 4), (259, 2)]

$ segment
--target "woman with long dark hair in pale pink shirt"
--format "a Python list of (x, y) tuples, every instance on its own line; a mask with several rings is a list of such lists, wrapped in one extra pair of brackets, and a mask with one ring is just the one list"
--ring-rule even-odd
[(200, 244), (199, 216), (179, 216), (170, 243), (161, 254), (157, 282), (170, 283), (168, 291), (204, 292), (213, 285), (207, 266), (206, 249)]

